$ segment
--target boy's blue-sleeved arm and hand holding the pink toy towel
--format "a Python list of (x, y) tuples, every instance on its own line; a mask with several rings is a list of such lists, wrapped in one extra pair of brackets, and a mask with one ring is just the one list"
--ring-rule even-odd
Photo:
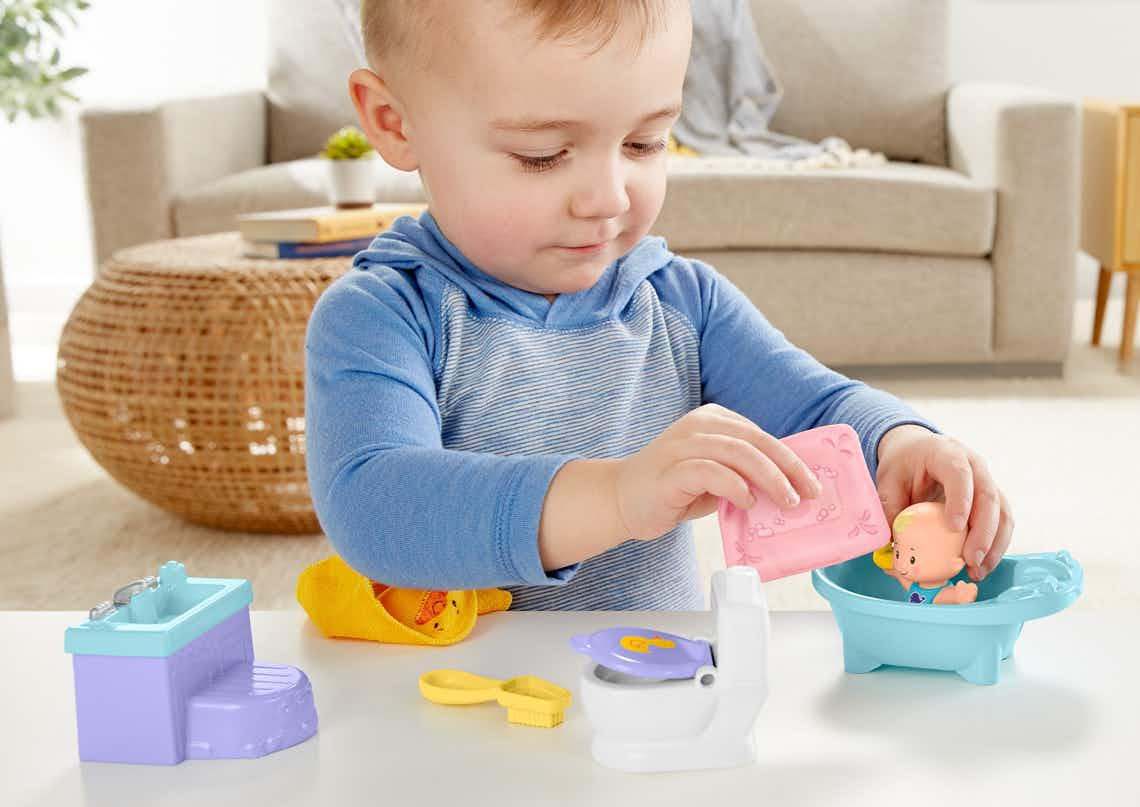
[[(383, 267), (320, 299), (306, 352), (309, 484), (321, 527), (363, 574), (409, 588), (559, 585), (630, 537), (816, 483), (783, 443), (722, 407), (625, 459), (442, 447), (434, 336), (410, 282)], [(747, 482), (746, 482), (747, 480)], [(553, 570), (547, 572), (546, 570)]]

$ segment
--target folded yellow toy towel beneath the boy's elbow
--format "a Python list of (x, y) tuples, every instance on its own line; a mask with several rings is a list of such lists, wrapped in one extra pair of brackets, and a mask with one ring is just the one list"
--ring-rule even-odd
[(499, 588), (429, 592), (373, 582), (337, 555), (301, 572), (296, 598), (325, 636), (392, 644), (455, 644), (480, 613), (511, 606), (511, 593)]

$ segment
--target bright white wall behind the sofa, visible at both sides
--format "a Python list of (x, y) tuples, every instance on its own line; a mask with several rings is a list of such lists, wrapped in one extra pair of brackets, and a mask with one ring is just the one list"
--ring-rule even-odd
[[(323, 0), (295, 0), (318, 2)], [(68, 33), (85, 103), (264, 84), (267, 0), (97, 0)], [(1140, 0), (953, 0), (951, 70), (1140, 100)], [(886, 24), (887, 21), (885, 21)], [(19, 377), (49, 377), (63, 318), (92, 272), (74, 111), (0, 124), (0, 244)], [(1078, 271), (1091, 294), (1093, 268)]]

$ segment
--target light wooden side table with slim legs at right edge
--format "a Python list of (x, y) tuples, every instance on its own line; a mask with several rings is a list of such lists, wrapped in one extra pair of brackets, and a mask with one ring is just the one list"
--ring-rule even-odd
[(1113, 276), (1125, 272), (1121, 369), (1132, 358), (1140, 305), (1140, 104), (1084, 101), (1081, 246), (1100, 263), (1092, 343), (1100, 344)]

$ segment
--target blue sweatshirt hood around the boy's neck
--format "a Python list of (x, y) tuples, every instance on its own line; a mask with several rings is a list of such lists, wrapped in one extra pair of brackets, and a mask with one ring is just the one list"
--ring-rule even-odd
[(546, 326), (581, 326), (620, 312), (642, 280), (668, 266), (673, 258), (663, 238), (646, 236), (608, 266), (593, 286), (560, 294), (552, 302), (484, 272), (447, 239), (432, 214), (424, 211), (418, 219), (397, 219), (391, 229), (357, 253), (352, 267), (367, 271), (373, 264), (382, 264), (417, 275), (438, 272), (463, 290), (478, 315), (510, 313)]

